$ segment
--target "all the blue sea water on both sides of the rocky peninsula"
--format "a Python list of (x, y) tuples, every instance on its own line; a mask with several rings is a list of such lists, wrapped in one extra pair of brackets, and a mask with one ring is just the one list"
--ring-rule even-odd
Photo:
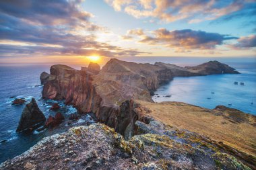
[[(188, 62), (192, 63), (191, 65), (197, 65), (205, 60), (193, 59), (193, 62), (192, 60), (189, 62), (187, 59), (143, 58), (143, 60), (135, 60), (135, 62), (154, 63), (155, 61), (162, 61), (185, 66), (188, 65)], [(162, 85), (156, 91), (157, 95), (152, 98), (156, 102), (183, 101), (210, 109), (222, 104), (243, 112), (256, 114), (256, 103), (251, 104), (251, 102), (256, 102), (256, 62), (243, 63), (241, 60), (238, 62), (224, 60), (223, 62), (242, 74), (175, 77), (173, 81)], [(13, 98), (10, 97), (24, 97), (26, 103), (34, 97), (46, 118), (56, 114), (56, 112), (49, 110), (55, 101), (41, 99), (40, 73), (42, 71), (49, 73), (49, 68), (50, 65), (0, 66), (0, 141), (7, 140), (0, 142), (0, 163), (24, 153), (45, 136), (64, 132), (69, 128), (66, 123), (63, 123), (60, 128), (33, 132), (32, 134), (15, 132), (25, 104), (11, 105)], [(244, 82), (245, 86), (234, 85), (234, 81)], [(165, 97), (166, 95), (171, 95), (171, 97)], [(228, 105), (229, 103), (232, 105)], [(61, 105), (60, 111), (66, 119), (70, 114), (77, 112), (75, 108), (71, 105), (65, 105), (63, 101), (59, 101), (59, 104)], [(73, 125), (86, 124), (89, 120), (85, 117), (74, 122)]]

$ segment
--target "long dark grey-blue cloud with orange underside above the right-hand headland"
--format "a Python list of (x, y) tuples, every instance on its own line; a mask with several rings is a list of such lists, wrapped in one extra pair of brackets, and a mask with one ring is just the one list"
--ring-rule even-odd
[(238, 39), (236, 37), (195, 30), (174, 30), (169, 31), (159, 28), (153, 32), (154, 36), (144, 35), (139, 42), (147, 44), (162, 44), (177, 51), (201, 49), (215, 49), (217, 45), (222, 45), (224, 40)]

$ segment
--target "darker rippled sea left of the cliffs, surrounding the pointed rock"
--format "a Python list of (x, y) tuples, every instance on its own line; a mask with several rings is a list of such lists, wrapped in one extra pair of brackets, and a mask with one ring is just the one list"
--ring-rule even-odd
[[(32, 133), (15, 132), (26, 104), (11, 105), (14, 98), (10, 97), (23, 97), (26, 99), (26, 103), (29, 103), (31, 98), (34, 97), (46, 118), (49, 115), (55, 116), (57, 113), (49, 110), (53, 102), (56, 101), (41, 99), (40, 73), (42, 71), (49, 73), (50, 67), (46, 65), (0, 67), (0, 141), (7, 140), (6, 142), (0, 142), (0, 163), (24, 153), (45, 136), (64, 132), (70, 128), (70, 126), (67, 126), (67, 122), (64, 122), (53, 130), (34, 131)], [(61, 110), (58, 110), (58, 112), (61, 112), (66, 120), (68, 120), (70, 114), (77, 113), (75, 108), (71, 105), (65, 105), (64, 101), (58, 101), (58, 103), (61, 106)], [(86, 125), (88, 122), (92, 122), (90, 116), (84, 116), (77, 121), (73, 121), (71, 126)]]

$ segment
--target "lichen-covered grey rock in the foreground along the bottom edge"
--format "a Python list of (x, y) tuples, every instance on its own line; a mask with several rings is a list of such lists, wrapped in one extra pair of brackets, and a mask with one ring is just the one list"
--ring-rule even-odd
[(0, 169), (249, 169), (209, 138), (155, 120), (137, 124), (145, 134), (129, 141), (104, 124), (71, 128), (44, 138)]

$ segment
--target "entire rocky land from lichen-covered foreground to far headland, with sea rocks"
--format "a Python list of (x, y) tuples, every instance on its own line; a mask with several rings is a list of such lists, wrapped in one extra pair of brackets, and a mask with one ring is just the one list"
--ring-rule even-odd
[[(90, 63), (81, 70), (53, 65), (40, 75), (42, 98), (65, 99), (98, 123), (43, 138), (0, 169), (256, 169), (255, 116), (224, 105), (210, 110), (152, 100), (173, 77), (226, 73), (238, 74), (218, 61), (179, 67), (110, 59), (102, 69)], [(22, 116), (19, 131), (50, 123), (33, 99)]]

